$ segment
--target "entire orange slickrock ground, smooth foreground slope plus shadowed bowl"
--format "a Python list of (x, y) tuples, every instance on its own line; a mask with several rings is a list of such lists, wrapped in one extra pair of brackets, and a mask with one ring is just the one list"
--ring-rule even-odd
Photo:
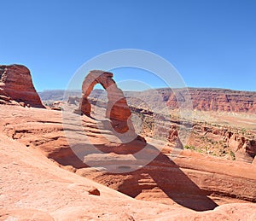
[[(83, 164), (69, 148), (61, 125), (61, 112), (38, 108), (26, 108), (26, 112), (24, 112), (24, 108), (3, 105), (0, 108), (0, 118), (3, 119), (0, 122), (0, 134), (3, 133), (9, 137), (1, 137), (1, 148), (3, 149), (1, 155), (5, 160), (11, 157), (7, 163), (10, 165), (7, 170), (4, 170), (6, 166), (1, 166), (1, 170), (3, 170), (1, 177), (9, 176), (8, 181), (3, 178), (1, 180), (1, 197), (5, 193), (5, 195), (8, 194), (7, 198), (9, 199), (9, 203), (4, 200), (1, 215), (10, 211), (9, 214), (20, 214), (21, 216), (23, 212), (20, 212), (20, 209), (29, 207), (46, 212), (45, 216), (49, 215), (53, 218), (59, 218), (61, 215), (63, 218), (72, 218), (72, 215), (76, 214), (75, 218), (89, 219), (97, 218), (96, 216), (99, 214), (103, 220), (104, 218), (118, 219), (123, 216), (126, 216), (127, 220), (131, 217), (135, 220), (150, 220), (150, 218), (153, 220), (155, 218), (175, 220), (177, 217), (181, 220), (188, 217), (192, 220), (193, 218), (207, 219), (209, 217), (231, 220), (232, 218), (241, 218), (244, 216), (244, 212), (247, 212), (247, 220), (256, 216), (255, 204), (250, 203), (256, 199), (256, 167), (254, 164), (220, 160), (189, 150), (173, 158), (175, 154), (173, 152), (168, 154), (171, 149), (166, 147), (163, 151), (166, 154), (160, 154), (147, 166), (135, 172), (116, 174), (104, 170), (97, 171), (95, 168)], [(78, 127), (75, 125), (73, 117), (78, 115), (70, 113), (68, 116), (70, 118), (68, 128), (70, 131), (76, 130)], [(95, 161), (99, 166), (111, 166), (113, 158), (119, 155), (122, 155), (123, 160), (127, 161), (132, 153), (143, 148), (144, 144), (140, 140), (126, 145), (109, 142), (113, 139), (113, 134), (110, 131), (99, 129), (100, 126), (97, 125), (99, 122), (96, 119), (83, 116), (82, 124), (84, 128), (82, 131), (78, 131), (78, 137), (74, 137), (73, 142), (76, 142), (78, 146), (84, 145), (79, 136), (84, 137), (86, 134), (87, 137), (90, 137), (90, 142), (104, 153), (88, 154), (90, 161)], [(158, 142), (153, 142), (150, 151), (158, 151), (159, 145)], [(41, 154), (54, 160), (55, 164)], [(20, 164), (20, 160), (22, 164)], [(13, 165), (13, 161), (18, 165)], [(4, 160), (1, 161), (1, 163), (4, 162)], [(24, 163), (29, 163), (29, 166), (23, 170), (21, 168)], [(42, 168), (41, 165), (44, 167)], [(61, 166), (69, 172), (63, 171), (57, 166)], [(26, 177), (20, 179), (19, 176)], [(106, 200), (102, 200), (102, 197), (104, 198), (103, 187), (91, 183), (92, 181), (86, 177), (137, 200), (144, 201), (129, 200), (127, 202), (126, 199), (130, 198), (125, 196), (124, 200), (123, 195), (117, 201), (109, 198), (109, 195)], [(86, 197), (84, 195), (77, 196), (75, 193), (72, 196), (69, 195), (67, 187), (71, 183), (67, 180), (70, 178), (78, 179), (78, 181), (73, 181), (74, 183), (86, 183), (87, 185), (87, 182), (90, 182), (86, 190)], [(60, 179), (61, 181), (59, 181)], [(12, 182), (16, 184), (11, 184)], [(99, 189), (100, 195), (88, 196), (88, 191), (93, 187)], [(36, 190), (32, 194), (31, 191), (34, 190), (30, 189), (34, 188)], [(49, 191), (50, 194), (42, 189), (46, 189), (45, 191)], [(113, 190), (109, 191), (113, 193)], [(88, 200), (87, 196), (94, 198)], [(21, 199), (25, 197), (26, 200), (20, 200), (20, 197)], [(60, 200), (55, 198), (60, 198)], [(98, 204), (98, 201), (101, 203)], [(15, 207), (11, 205), (15, 205)], [(127, 205), (130, 209), (127, 209)], [(113, 212), (113, 207), (115, 212)], [(84, 212), (87, 210), (89, 212)], [(193, 210), (206, 212), (193, 212)]]

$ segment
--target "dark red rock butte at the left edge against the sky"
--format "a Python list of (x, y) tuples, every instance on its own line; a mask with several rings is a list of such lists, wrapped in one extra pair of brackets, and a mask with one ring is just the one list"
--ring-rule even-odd
[(0, 66), (0, 103), (44, 108), (25, 66)]

